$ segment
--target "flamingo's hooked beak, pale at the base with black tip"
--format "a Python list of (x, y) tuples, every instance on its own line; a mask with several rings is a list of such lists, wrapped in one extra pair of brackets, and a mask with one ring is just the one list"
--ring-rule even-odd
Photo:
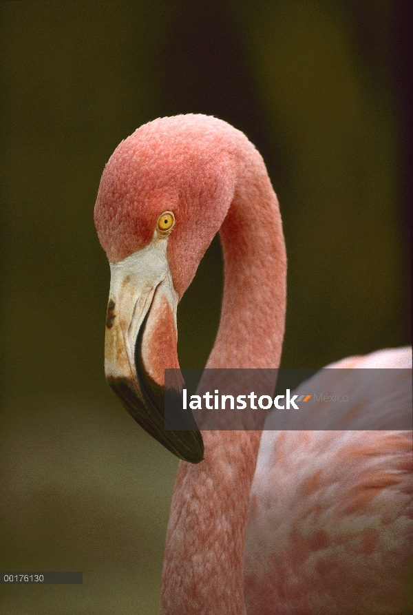
[[(191, 410), (183, 410), (182, 375), (173, 386), (174, 404), (189, 426), (165, 429), (165, 368), (179, 369), (176, 350), (178, 294), (173, 288), (165, 240), (116, 264), (105, 335), (105, 375), (129, 414), (174, 455), (191, 463), (204, 459), (204, 443)], [(179, 372), (178, 372), (179, 373)]]

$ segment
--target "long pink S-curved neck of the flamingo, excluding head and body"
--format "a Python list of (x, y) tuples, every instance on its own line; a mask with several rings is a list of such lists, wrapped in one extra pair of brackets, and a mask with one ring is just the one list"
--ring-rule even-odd
[[(256, 150), (254, 150), (257, 154)], [(277, 198), (259, 154), (239, 176), (220, 229), (224, 295), (208, 368), (277, 368), (286, 256)], [(205, 459), (180, 461), (171, 501), (160, 612), (245, 614), (244, 545), (260, 431), (204, 431)]]

